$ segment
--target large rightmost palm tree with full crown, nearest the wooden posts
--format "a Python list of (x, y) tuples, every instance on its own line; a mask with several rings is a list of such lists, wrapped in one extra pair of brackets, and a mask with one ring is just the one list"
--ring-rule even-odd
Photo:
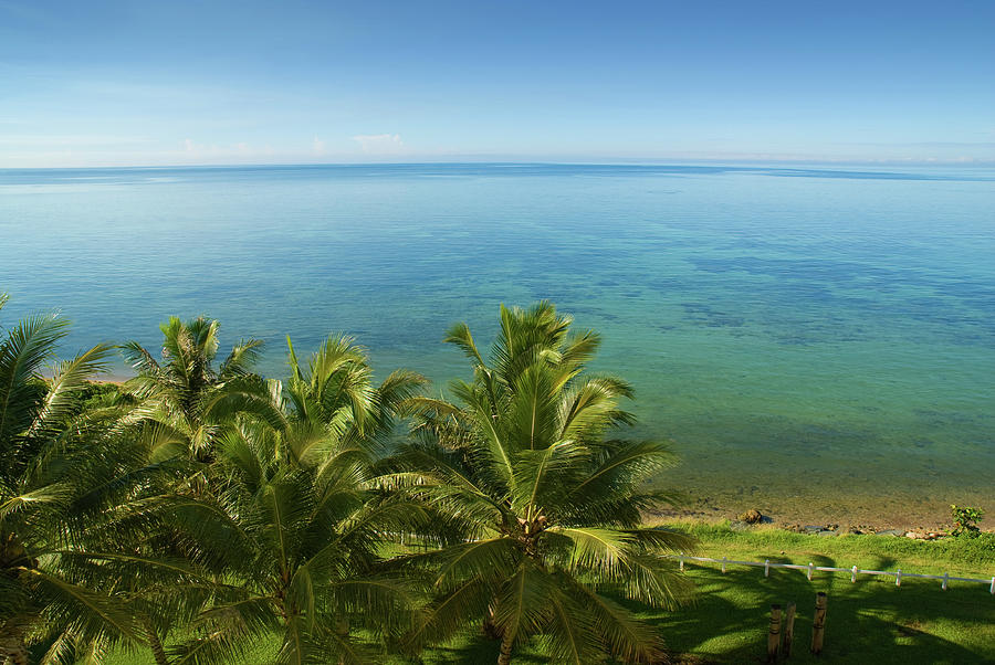
[(583, 374), (599, 338), (569, 325), (548, 303), (502, 306), (490, 363), (469, 327), (453, 326), (447, 341), (470, 357), (474, 380), (452, 384), (458, 405), (412, 400), (421, 441), (401, 467), (423, 473), (411, 492), (448, 510), (464, 538), (409, 560), (432, 567), (439, 592), (412, 646), (475, 616), (501, 635), (499, 664), (534, 635), (573, 663), (662, 657), (656, 632), (612, 597), (661, 606), (681, 593), (661, 552), (691, 543), (641, 526), (643, 509), (672, 499), (646, 482), (673, 456), (659, 442), (606, 439), (632, 422), (618, 407), (631, 389)]

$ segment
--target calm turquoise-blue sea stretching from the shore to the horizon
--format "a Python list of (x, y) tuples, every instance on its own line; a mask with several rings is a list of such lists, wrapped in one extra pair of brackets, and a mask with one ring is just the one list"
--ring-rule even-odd
[[(170, 314), (383, 371), (549, 298), (605, 337), (692, 498), (995, 514), (995, 171), (413, 165), (0, 170), (2, 320), (154, 346)], [(789, 500), (788, 500), (789, 499)], [(918, 513), (917, 513), (918, 511)]]

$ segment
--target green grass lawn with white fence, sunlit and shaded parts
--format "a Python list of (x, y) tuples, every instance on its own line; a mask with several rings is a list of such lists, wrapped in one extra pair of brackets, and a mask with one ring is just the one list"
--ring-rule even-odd
[[(991, 578), (995, 574), (995, 536), (946, 539), (931, 542), (884, 536), (836, 538), (761, 528), (731, 531), (726, 525), (681, 525), (700, 539), (699, 556), (730, 559), (808, 563), (904, 572), (950, 572), (954, 576)], [(797, 604), (795, 647), (789, 662), (831, 663), (983, 663), (995, 662), (995, 595), (978, 583), (905, 578), (900, 588), (894, 578), (858, 578), (847, 573), (816, 572), (811, 581), (804, 571), (771, 571), (718, 564), (688, 564), (685, 577), (695, 591), (689, 604), (677, 611), (642, 612), (658, 625), (677, 662), (760, 663), (766, 659), (766, 631), (772, 603)], [(828, 597), (823, 655), (808, 653), (816, 592)], [(468, 637), (426, 652), (427, 664), (493, 663), (498, 644)], [(272, 651), (262, 647), (248, 663), (265, 664)], [(117, 654), (113, 665), (138, 665), (151, 658)], [(385, 656), (389, 663), (411, 663)], [(417, 662), (417, 661), (416, 661)], [(515, 663), (545, 663), (537, 648), (520, 650)]]

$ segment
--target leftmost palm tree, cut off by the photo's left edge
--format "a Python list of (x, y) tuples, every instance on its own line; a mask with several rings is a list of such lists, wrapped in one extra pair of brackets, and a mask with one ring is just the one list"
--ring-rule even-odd
[[(6, 300), (0, 294), (0, 307)], [(121, 446), (91, 445), (94, 428), (78, 418), (86, 379), (104, 368), (111, 347), (41, 376), (67, 325), (30, 316), (0, 339), (0, 657), (15, 664), (28, 662), (29, 640), (45, 636), (46, 658), (140, 641), (123, 604), (75, 574), (91, 519), (132, 458)]]

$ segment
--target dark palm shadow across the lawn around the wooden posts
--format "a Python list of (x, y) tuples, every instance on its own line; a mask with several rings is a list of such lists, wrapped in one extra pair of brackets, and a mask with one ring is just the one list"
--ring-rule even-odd
[[(811, 561), (836, 566), (828, 557)], [(878, 570), (894, 567), (888, 559), (877, 563)], [(995, 603), (986, 589), (943, 592), (939, 582), (926, 580), (902, 580), (897, 588), (894, 578), (869, 576), (851, 584), (842, 572), (816, 572), (809, 581), (805, 571), (784, 569), (764, 578), (762, 568), (733, 566), (723, 574), (718, 564), (694, 567), (688, 574), (698, 587), (692, 605), (643, 613), (660, 627), (678, 662), (766, 662), (771, 604), (788, 602), (797, 605), (792, 663), (995, 662)], [(816, 657), (809, 645), (818, 591), (828, 594), (828, 611), (824, 651)]]

